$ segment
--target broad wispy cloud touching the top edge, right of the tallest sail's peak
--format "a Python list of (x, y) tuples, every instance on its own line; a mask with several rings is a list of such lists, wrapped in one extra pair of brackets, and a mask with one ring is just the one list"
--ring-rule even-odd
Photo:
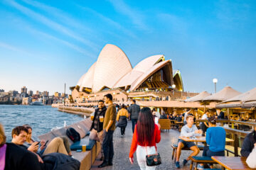
[(131, 8), (127, 4), (124, 3), (123, 0), (109, 0), (112, 6), (114, 6), (114, 9), (118, 11), (119, 13), (122, 13), (124, 16), (127, 16), (129, 19), (132, 20), (132, 23), (134, 23), (137, 28), (141, 30), (149, 30), (149, 28), (144, 23), (144, 15), (140, 13), (139, 11), (136, 11), (135, 9)]

